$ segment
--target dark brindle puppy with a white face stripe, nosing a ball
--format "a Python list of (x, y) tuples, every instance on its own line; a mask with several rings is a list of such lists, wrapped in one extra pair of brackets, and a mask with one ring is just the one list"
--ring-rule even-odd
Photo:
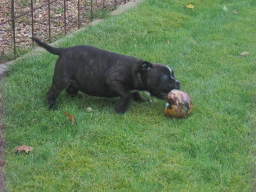
[(124, 113), (130, 100), (145, 101), (139, 91), (166, 99), (179, 89), (173, 71), (162, 64), (125, 56), (92, 46), (54, 48), (32, 38), (52, 54), (59, 55), (47, 101), (52, 108), (58, 94), (66, 88), (71, 95), (82, 91), (92, 96), (120, 97), (116, 112)]

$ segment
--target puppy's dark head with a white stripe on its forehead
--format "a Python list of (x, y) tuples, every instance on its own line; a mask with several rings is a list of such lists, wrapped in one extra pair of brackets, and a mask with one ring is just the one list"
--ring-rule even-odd
[(180, 89), (180, 82), (174, 78), (174, 72), (168, 66), (142, 62), (139, 70), (150, 96), (167, 99), (171, 90)]

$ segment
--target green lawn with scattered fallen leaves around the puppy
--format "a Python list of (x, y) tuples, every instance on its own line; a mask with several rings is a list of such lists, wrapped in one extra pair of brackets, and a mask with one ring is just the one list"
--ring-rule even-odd
[[(70, 98), (64, 91), (49, 111), (57, 57), (17, 62), (1, 82), (6, 190), (252, 191), (255, 10), (255, 0), (147, 0), (60, 45), (88, 44), (171, 66), (194, 101), (185, 119), (164, 116), (163, 100), (133, 102), (116, 115), (117, 98)], [(243, 51), (250, 55), (238, 57)], [(35, 149), (14, 155), (19, 145)]]

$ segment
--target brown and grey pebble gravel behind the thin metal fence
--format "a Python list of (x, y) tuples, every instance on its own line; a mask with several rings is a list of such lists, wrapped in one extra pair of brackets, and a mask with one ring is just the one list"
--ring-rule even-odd
[[(51, 0), (52, 1), (52, 0)], [(48, 3), (48, 0), (33, 0), (33, 8)], [(114, 5), (114, 0), (105, 0), (105, 7)], [(120, 0), (116, 0), (120, 2)], [(123, 3), (121, 3), (122, 5)], [(30, 11), (30, 0), (14, 0), (15, 16)], [(93, 12), (103, 8), (103, 0), (93, 1)], [(0, 0), (0, 23), (11, 18), (11, 1)], [(80, 0), (80, 20), (90, 16), (90, 0)], [(48, 38), (48, 6), (34, 11), (34, 36), (41, 40)], [(64, 31), (64, 1), (57, 0), (50, 4), (51, 36)], [(78, 0), (66, 0), (66, 26), (70, 28), (78, 20)], [(85, 24), (90, 22), (87, 19)], [(77, 30), (75, 27), (72, 30)], [(31, 46), (32, 36), (31, 14), (15, 19), (16, 46), (25, 49)], [(12, 22), (0, 25), (0, 63), (1, 58), (8, 59), (13, 56)]]

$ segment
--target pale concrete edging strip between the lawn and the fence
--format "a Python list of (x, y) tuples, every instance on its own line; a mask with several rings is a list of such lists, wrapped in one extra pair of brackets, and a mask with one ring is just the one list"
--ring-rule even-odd
[[(136, 7), (140, 2), (143, 2), (143, 1), (144, 0), (131, 0), (128, 3), (118, 7), (116, 10), (112, 11), (110, 15), (111, 16), (119, 15), (119, 14), (121, 14), (121, 13), (127, 11), (127, 10), (130, 10), (131, 8)], [(97, 25), (98, 23), (100, 23), (102, 21), (104, 21), (104, 19), (96, 19), (96, 20), (90, 22), (87, 26), (90, 26), (90, 25), (95, 26), (95, 25)], [(72, 34), (66, 35), (63, 39), (59, 39), (59, 40), (51, 43), (50, 45), (54, 46), (56, 44), (59, 44), (65, 38), (72, 37), (72, 36), (74, 36), (74, 34), (80, 32), (82, 30), (85, 30), (87, 26), (85, 26), (84, 28), (80, 28), (79, 30), (76, 30)], [(42, 52), (42, 51), (46, 51), (46, 50), (44, 48), (36, 48), (35, 50), (33, 50), (33, 51), (31, 51), (31, 52), (29, 52), (27, 54), (24, 54), (24, 55), (18, 57), (16, 60), (12, 60), (12, 61), (0, 64), (0, 77), (4, 76), (6, 74), (6, 72), (8, 71), (9, 66), (14, 65), (16, 61), (21, 60), (23, 58), (26, 58), (27, 56), (31, 56), (32, 54), (37, 54), (38, 52)]]

